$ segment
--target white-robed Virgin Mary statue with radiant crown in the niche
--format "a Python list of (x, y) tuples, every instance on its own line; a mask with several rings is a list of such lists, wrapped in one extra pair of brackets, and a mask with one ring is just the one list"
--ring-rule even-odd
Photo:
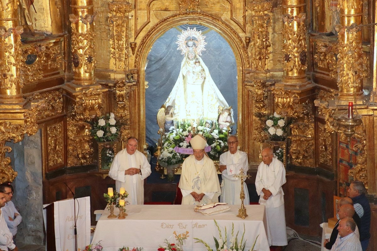
[(200, 57), (207, 44), (204, 38), (196, 28), (188, 28), (178, 35), (176, 43), (184, 58), (178, 79), (165, 102), (166, 107), (174, 107), (178, 120), (217, 120), (219, 106), (228, 107)]

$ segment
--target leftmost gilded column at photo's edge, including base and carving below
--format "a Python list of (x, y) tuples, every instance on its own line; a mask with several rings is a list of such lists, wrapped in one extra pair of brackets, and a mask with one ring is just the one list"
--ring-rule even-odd
[(25, 133), (37, 132), (34, 112), (23, 98), (20, 81), (21, 26), (17, 26), (17, 1), (0, 5), (0, 183), (13, 181), (17, 176), (6, 152), (12, 148), (6, 141), (21, 141)]

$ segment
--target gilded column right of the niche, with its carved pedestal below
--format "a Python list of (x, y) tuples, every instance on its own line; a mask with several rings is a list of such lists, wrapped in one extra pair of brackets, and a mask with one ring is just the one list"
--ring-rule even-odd
[(308, 81), (305, 0), (283, 0), (283, 76), (275, 84), (275, 110), (290, 124), (291, 164), (314, 167), (314, 85)]

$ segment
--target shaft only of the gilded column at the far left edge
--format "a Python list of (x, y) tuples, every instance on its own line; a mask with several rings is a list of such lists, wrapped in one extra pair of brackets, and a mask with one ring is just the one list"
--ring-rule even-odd
[[(5, 5), (5, 2), (3, 2)], [(11, 3), (18, 3), (11, 1)], [(20, 81), (21, 38), (23, 28), (18, 25), (17, 5), (0, 6), (0, 106), (22, 108), (25, 100)]]

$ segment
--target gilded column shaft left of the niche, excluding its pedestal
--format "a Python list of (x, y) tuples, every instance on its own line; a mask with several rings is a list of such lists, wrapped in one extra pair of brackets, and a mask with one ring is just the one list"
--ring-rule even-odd
[(73, 84), (92, 85), (95, 83), (95, 44), (93, 21), (93, 0), (71, 0), (72, 14), (72, 70)]

